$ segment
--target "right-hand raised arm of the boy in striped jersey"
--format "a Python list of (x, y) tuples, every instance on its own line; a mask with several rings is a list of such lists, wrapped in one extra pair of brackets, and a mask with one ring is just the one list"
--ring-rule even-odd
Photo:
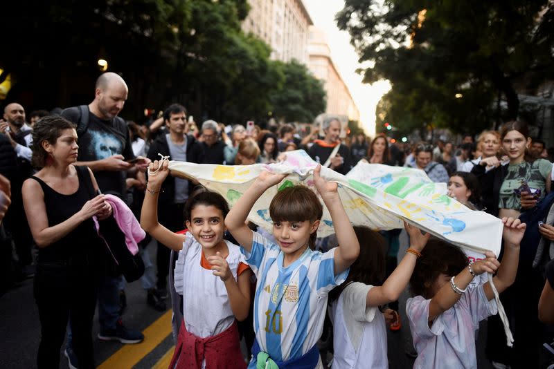
[(334, 251), (334, 274), (339, 274), (352, 265), (359, 255), (358, 238), (350, 224), (350, 219), (342, 206), (336, 182), (325, 182), (319, 173), (321, 165), (314, 170), (314, 184), (331, 214), (334, 232), (337, 234), (339, 247)]

